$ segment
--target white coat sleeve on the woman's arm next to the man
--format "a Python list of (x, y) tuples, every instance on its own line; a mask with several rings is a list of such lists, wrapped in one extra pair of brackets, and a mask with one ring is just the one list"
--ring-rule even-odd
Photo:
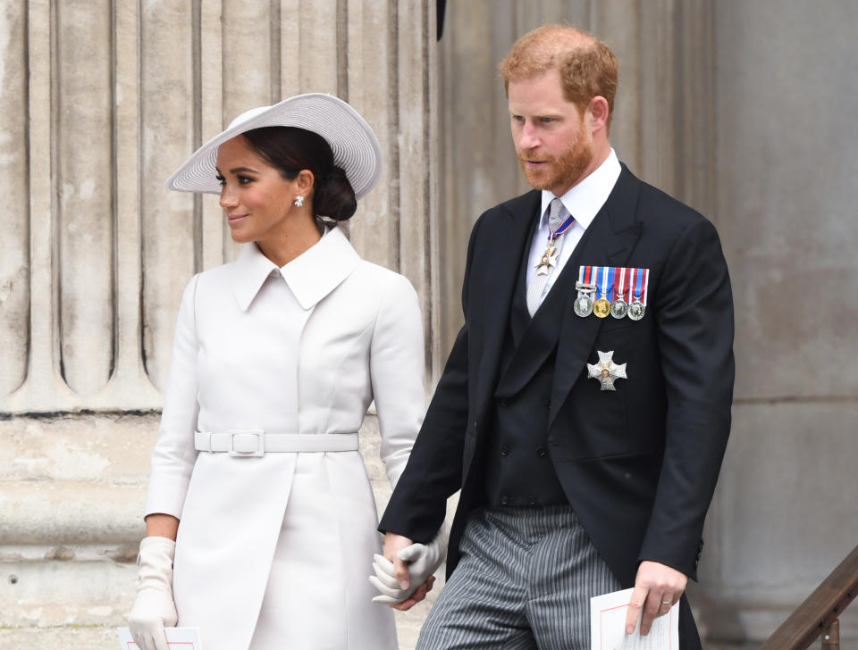
[(396, 487), (425, 413), (425, 342), (416, 291), (394, 276), (375, 321), (369, 356), (375, 411), (381, 430), (380, 455)]

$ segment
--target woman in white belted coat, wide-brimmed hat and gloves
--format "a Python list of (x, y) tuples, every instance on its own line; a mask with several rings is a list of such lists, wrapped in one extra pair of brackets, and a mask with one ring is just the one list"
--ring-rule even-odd
[(407, 279), (317, 218), (348, 219), (380, 170), (366, 121), (311, 94), (240, 115), (168, 182), (219, 193), (244, 246), (181, 299), (130, 615), (147, 650), (176, 624), (206, 650), (396, 648), (366, 580), (357, 430), (374, 400), (395, 485), (425, 409), (422, 321)]

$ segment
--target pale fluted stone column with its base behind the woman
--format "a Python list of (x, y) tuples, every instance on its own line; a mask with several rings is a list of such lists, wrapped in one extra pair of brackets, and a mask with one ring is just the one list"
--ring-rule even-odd
[(383, 175), (345, 229), (415, 285), (431, 372), (434, 34), (431, 0), (0, 6), (0, 647), (115, 646), (181, 290), (237, 252), (216, 197), (164, 182), (240, 112), (319, 91), (372, 125)]

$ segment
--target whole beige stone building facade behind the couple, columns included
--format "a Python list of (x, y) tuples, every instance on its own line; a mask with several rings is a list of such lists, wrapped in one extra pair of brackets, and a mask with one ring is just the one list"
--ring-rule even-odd
[[(854, 3), (448, 5), (436, 65), (432, 0), (0, 4), (0, 647), (113, 647), (130, 608), (181, 287), (235, 252), (216, 199), (167, 193), (169, 173), (250, 106), (347, 98), (385, 160), (350, 237), (417, 287), (436, 379), (471, 224), (526, 189), (495, 66), (544, 21), (615, 49), (613, 145), (716, 223), (731, 267), (735, 424), (692, 587), (702, 631), (766, 637), (854, 546)], [(400, 619), (404, 648), (425, 611)]]

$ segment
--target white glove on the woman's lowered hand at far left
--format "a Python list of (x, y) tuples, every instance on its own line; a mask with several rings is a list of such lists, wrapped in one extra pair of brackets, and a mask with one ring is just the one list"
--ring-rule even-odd
[(128, 616), (131, 637), (140, 650), (168, 650), (164, 628), (179, 616), (172, 601), (172, 558), (176, 543), (167, 537), (144, 537), (137, 556), (137, 599)]

